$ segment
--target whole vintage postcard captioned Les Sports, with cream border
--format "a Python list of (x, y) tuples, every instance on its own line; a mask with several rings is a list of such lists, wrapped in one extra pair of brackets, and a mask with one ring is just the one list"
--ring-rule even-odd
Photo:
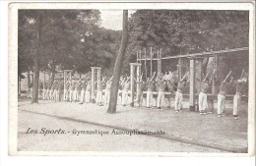
[(9, 155), (255, 155), (255, 3), (11, 3)]

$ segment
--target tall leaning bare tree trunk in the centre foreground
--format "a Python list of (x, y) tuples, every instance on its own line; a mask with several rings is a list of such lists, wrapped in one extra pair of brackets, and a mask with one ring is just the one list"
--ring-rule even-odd
[(123, 60), (125, 56), (125, 50), (128, 43), (128, 10), (123, 10), (123, 32), (122, 41), (119, 49), (118, 56), (115, 61), (113, 80), (111, 84), (110, 102), (107, 109), (107, 113), (116, 113), (117, 94), (119, 88), (119, 80), (123, 66)]

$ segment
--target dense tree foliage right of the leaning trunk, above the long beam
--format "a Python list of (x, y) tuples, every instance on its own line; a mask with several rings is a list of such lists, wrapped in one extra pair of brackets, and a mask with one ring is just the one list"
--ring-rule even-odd
[[(138, 10), (129, 20), (130, 54), (125, 61), (134, 61), (137, 50), (147, 48), (149, 52), (149, 47), (162, 48), (163, 57), (248, 47), (248, 16), (247, 11)], [(224, 66), (229, 66), (226, 62), (230, 61), (242, 62), (237, 56), (219, 59)], [(204, 69), (209, 62), (207, 58), (204, 60)], [(189, 66), (188, 61), (185, 63)], [(176, 64), (175, 60), (164, 61), (163, 71), (176, 70)], [(244, 67), (239, 66), (238, 71)], [(218, 71), (218, 75), (226, 74)]]

